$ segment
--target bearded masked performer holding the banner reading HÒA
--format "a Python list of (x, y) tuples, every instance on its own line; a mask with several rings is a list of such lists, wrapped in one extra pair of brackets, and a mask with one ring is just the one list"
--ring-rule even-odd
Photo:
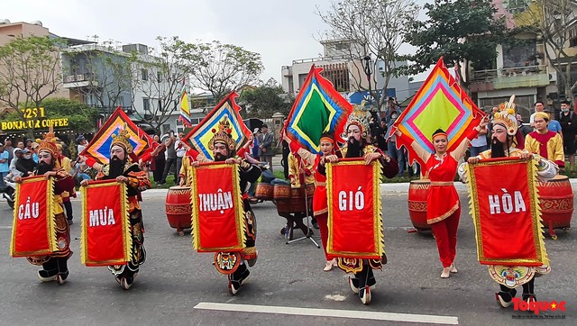
[[(511, 112), (512, 111), (512, 112)], [(537, 164), (537, 176), (543, 180), (552, 179), (558, 172), (557, 166), (537, 154), (532, 154), (528, 150), (517, 149), (515, 146), (517, 133), (517, 118), (511, 108), (505, 107), (505, 110), (496, 113), (493, 121), (493, 130), (491, 136), (491, 146), (489, 150), (481, 152), (477, 157), (469, 158), (469, 164), (479, 162), (481, 158), (521, 158), (533, 159)], [(459, 167), (459, 174), (465, 178), (465, 164)], [(551, 270), (548, 266), (541, 267), (517, 267), (517, 266), (489, 266), (491, 278), (499, 283), (500, 291), (495, 294), (497, 303), (501, 307), (508, 307), (515, 295), (517, 285), (523, 286), (523, 300), (530, 302), (536, 301), (534, 291), (535, 276), (547, 274)], [(502, 273), (508, 271), (507, 273)], [(522, 275), (519, 275), (520, 274)], [(502, 277), (504, 274), (510, 274), (510, 277)]]

